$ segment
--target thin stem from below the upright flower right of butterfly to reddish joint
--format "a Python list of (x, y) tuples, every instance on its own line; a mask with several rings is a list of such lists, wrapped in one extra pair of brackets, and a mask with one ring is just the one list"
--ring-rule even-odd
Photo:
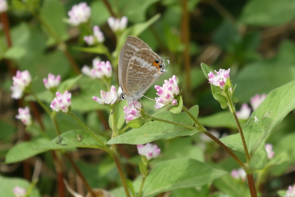
[(234, 104), (232, 103), (232, 100), (231, 100), (231, 96), (230, 96), (229, 91), (230, 90), (228, 90), (225, 93), (226, 94), (226, 97), (227, 97), (227, 100), (228, 100), (228, 107), (229, 107), (229, 109), (231, 111), (231, 114), (234, 116), (235, 122), (236, 122), (236, 124), (238, 126), (238, 130), (239, 130), (239, 133), (240, 133), (240, 136), (241, 136), (241, 139), (242, 139), (242, 143), (243, 143), (243, 147), (244, 147), (244, 150), (245, 150), (246, 160), (247, 160), (247, 163), (249, 164), (249, 162), (250, 162), (250, 155), (249, 155), (249, 152), (248, 152), (246, 140), (245, 140), (245, 137), (244, 137), (244, 133), (242, 131), (241, 124), (240, 124), (239, 119), (237, 117), (237, 114), (235, 113), (235, 107), (234, 107)]

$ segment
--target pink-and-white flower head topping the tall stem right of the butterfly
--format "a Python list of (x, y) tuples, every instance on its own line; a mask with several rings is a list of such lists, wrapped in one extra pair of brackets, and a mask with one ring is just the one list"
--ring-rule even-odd
[(231, 69), (229, 68), (228, 70), (224, 69), (219, 69), (219, 71), (215, 70), (216, 75), (213, 72), (208, 73), (209, 77), (209, 82), (213, 84), (214, 86), (220, 87), (220, 89), (224, 89), (224, 85), (229, 78), (229, 71)]

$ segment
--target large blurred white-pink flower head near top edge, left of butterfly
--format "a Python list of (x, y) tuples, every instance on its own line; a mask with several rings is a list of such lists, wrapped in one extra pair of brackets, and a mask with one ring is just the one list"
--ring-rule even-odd
[(91, 9), (86, 2), (73, 5), (72, 9), (67, 13), (69, 15), (68, 22), (74, 26), (86, 23), (91, 16)]

